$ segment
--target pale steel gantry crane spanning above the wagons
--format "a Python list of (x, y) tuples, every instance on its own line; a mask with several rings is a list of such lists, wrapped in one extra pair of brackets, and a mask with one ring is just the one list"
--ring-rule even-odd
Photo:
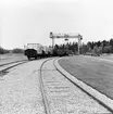
[(78, 33), (74, 33), (74, 34), (61, 34), (61, 33), (52, 33), (50, 31), (50, 38), (52, 39), (52, 48), (54, 49), (54, 38), (64, 38), (64, 39), (68, 39), (68, 38), (77, 38), (78, 39), (78, 54), (79, 54), (79, 48), (80, 48), (80, 43), (81, 43), (81, 39), (83, 36)]

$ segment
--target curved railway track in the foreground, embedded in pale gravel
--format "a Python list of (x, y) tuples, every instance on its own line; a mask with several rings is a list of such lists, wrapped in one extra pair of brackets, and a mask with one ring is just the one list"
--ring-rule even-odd
[(39, 69), (46, 114), (112, 114), (110, 109), (62, 75), (54, 66), (54, 61), (46, 60)]

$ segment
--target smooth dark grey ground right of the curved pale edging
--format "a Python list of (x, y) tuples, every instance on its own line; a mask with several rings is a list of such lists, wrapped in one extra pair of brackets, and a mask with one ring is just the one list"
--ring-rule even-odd
[(59, 63), (73, 76), (113, 99), (113, 56), (76, 55), (62, 59)]

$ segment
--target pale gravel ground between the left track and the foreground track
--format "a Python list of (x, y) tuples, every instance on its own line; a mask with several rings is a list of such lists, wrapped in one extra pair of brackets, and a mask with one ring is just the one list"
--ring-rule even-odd
[(38, 78), (42, 61), (16, 66), (0, 78), (0, 114), (45, 114)]

